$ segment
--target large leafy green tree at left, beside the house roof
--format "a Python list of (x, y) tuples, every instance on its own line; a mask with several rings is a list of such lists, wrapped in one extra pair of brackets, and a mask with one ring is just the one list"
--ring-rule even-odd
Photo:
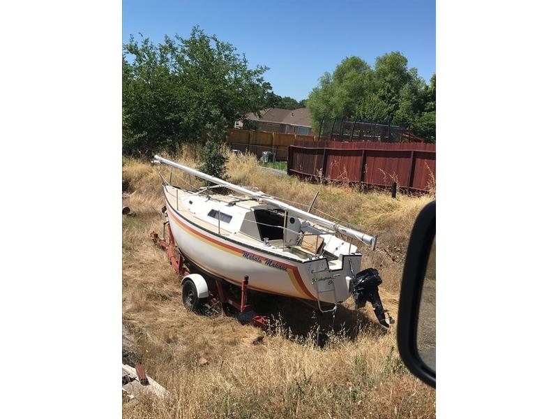
[(248, 68), (229, 43), (194, 27), (154, 45), (130, 37), (122, 57), (123, 153), (151, 154), (223, 138), (269, 102), (266, 67)]

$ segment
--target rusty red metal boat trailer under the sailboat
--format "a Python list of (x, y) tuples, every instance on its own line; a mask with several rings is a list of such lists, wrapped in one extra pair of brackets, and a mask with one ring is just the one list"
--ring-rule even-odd
[[(163, 208), (163, 212), (165, 212), (165, 210), (166, 208)], [(193, 275), (190, 274), (190, 270), (188, 270), (188, 267), (186, 266), (186, 257), (182, 254), (174, 241), (174, 236), (172, 235), (172, 231), (169, 227), (169, 221), (165, 221), (165, 223), (163, 223), (163, 238), (159, 237), (159, 235), (154, 231), (151, 232), (149, 236), (151, 237), (151, 240), (153, 240), (154, 244), (167, 251), (170, 265), (172, 265), (174, 270), (176, 270), (176, 272), (182, 277), (182, 299), (184, 305), (186, 306), (186, 298), (188, 296), (185, 295), (184, 284), (188, 281), (188, 278), (193, 277)], [(223, 309), (223, 304), (230, 304), (239, 311), (238, 318), (241, 323), (251, 323), (252, 325), (264, 330), (269, 327), (269, 318), (256, 314), (252, 310), (250, 304), (248, 304), (248, 289), (250, 281), (248, 275), (244, 277), (240, 286), (240, 298), (235, 297), (233, 293), (229, 292), (229, 287), (232, 285), (225, 282), (224, 279), (204, 275), (203, 280), (207, 284), (207, 291), (209, 293), (208, 297), (204, 298), (204, 300), (206, 300), (206, 305), (210, 308), (220, 305)]]

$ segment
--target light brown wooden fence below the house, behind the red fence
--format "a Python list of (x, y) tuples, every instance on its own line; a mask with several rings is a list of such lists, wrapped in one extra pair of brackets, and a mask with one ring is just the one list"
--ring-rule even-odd
[(258, 158), (262, 156), (262, 152), (274, 152), (278, 161), (287, 160), (287, 149), (295, 140), (301, 142), (315, 141), (317, 136), (247, 131), (243, 129), (229, 129), (229, 134), (227, 135), (227, 142), (232, 148), (239, 149), (242, 152), (250, 152)]

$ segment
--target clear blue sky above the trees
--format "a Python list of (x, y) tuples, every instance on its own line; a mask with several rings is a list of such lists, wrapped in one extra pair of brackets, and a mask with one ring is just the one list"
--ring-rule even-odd
[(122, 8), (124, 42), (139, 32), (156, 43), (189, 36), (199, 25), (250, 66), (268, 66), (273, 91), (299, 101), (351, 55), (373, 66), (378, 55), (400, 51), (425, 80), (435, 73), (435, 0), (123, 0)]

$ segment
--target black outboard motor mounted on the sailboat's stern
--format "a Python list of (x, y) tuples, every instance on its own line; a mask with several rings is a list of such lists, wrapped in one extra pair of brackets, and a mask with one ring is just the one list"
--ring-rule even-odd
[(379, 277), (378, 271), (373, 267), (356, 274), (353, 281), (354, 302), (356, 307), (360, 309), (364, 307), (367, 301), (370, 301), (379, 323), (389, 328), (389, 325), (393, 325), (395, 321), (382, 306), (382, 300), (379, 299), (378, 293), (379, 284), (382, 284), (382, 278)]

